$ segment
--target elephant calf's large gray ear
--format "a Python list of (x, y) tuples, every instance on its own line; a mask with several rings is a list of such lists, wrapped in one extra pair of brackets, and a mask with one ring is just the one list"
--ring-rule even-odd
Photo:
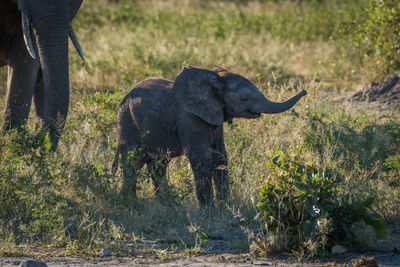
[(176, 77), (173, 91), (183, 110), (209, 124), (222, 125), (222, 81), (215, 71), (185, 67)]

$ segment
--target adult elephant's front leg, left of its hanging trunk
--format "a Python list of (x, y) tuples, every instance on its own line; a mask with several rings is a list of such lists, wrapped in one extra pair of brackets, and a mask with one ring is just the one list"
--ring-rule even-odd
[(31, 58), (21, 39), (11, 49), (8, 65), (4, 130), (26, 124), (40, 63)]

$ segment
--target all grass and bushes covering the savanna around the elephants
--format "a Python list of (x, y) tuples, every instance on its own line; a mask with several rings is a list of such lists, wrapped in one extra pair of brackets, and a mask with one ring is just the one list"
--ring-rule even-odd
[[(70, 48), (72, 101), (57, 152), (34, 112), (23, 133), (0, 137), (0, 256), (110, 247), (168, 258), (204, 252), (216, 230), (254, 255), (373, 249), (400, 223), (400, 113), (348, 97), (399, 70), (399, 23), (396, 0), (85, 0), (73, 24), (86, 60)], [(173, 80), (186, 65), (223, 66), (271, 100), (308, 96), (226, 125), (223, 207), (198, 208), (185, 158), (168, 169), (177, 205), (161, 204), (143, 171), (133, 206), (118, 194), (121, 174), (111, 175), (118, 105), (140, 80)], [(135, 246), (140, 239), (169, 250)]]

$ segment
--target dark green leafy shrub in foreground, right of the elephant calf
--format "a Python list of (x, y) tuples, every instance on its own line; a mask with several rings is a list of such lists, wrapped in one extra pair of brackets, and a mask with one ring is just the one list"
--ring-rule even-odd
[(341, 175), (282, 152), (268, 165), (271, 174), (260, 180), (257, 205), (267, 230), (264, 252), (294, 250), (308, 257), (337, 243), (357, 243), (352, 226), (359, 222), (371, 226), (377, 238), (385, 238), (385, 221), (371, 212), (374, 199), (345, 192)]

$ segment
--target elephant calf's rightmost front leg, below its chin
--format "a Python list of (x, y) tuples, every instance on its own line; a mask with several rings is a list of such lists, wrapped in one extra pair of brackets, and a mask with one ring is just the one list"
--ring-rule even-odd
[(215, 143), (215, 149), (212, 150), (212, 158), (216, 198), (218, 200), (226, 200), (229, 198), (229, 176), (227, 172), (228, 158), (225, 150), (222, 127), (218, 127), (216, 131)]

